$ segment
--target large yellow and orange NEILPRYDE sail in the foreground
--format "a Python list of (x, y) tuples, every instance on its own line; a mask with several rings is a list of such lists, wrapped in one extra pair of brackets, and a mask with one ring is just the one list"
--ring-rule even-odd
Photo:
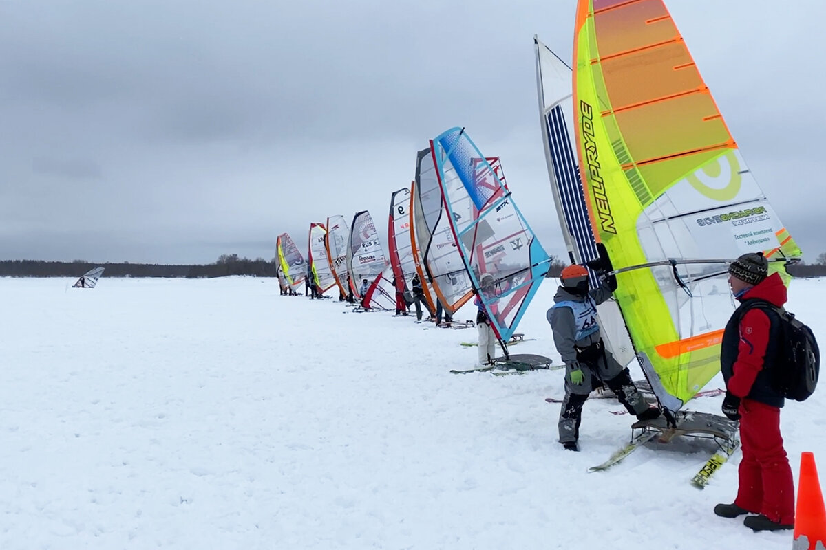
[(771, 209), (662, 0), (579, 0), (573, 103), (591, 228), (643, 372), (672, 411), (719, 371), (727, 266), (800, 248)]

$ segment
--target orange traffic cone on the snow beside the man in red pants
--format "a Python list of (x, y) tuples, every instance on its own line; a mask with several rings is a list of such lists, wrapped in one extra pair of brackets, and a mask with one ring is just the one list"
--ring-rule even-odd
[(800, 455), (800, 481), (795, 510), (795, 543), (793, 550), (826, 548), (826, 506), (820, 491), (818, 467), (814, 454)]

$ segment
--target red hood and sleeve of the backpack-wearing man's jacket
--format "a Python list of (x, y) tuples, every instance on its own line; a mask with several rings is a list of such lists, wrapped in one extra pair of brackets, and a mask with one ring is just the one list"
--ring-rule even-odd
[[(786, 285), (781, 276), (774, 273), (760, 284), (748, 289), (738, 300), (763, 299), (780, 307), (786, 303)], [(737, 397), (747, 397), (763, 369), (766, 350), (769, 347), (771, 321), (765, 311), (749, 309), (740, 320), (740, 341), (737, 360), (734, 361), (731, 378), (726, 387)]]

